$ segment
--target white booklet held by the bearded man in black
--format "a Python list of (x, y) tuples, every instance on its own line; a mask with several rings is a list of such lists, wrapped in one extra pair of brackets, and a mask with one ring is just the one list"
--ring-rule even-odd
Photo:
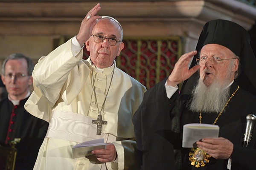
[(203, 138), (218, 138), (218, 125), (190, 123), (183, 125), (182, 147), (195, 147), (193, 144)]

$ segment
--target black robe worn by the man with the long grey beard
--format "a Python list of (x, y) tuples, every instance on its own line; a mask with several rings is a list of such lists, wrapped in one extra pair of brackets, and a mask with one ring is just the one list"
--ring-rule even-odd
[[(166, 79), (146, 91), (143, 102), (133, 118), (137, 149), (141, 153), (140, 158), (143, 162), (141, 169), (227, 170), (228, 159), (211, 158), (209, 164), (200, 168), (190, 164), (188, 159), (190, 148), (181, 149), (182, 134), (179, 132), (182, 132), (184, 124), (199, 123), (199, 113), (192, 113), (184, 108), (189, 96), (179, 96), (176, 92), (171, 99), (168, 99), (165, 82)], [(231, 94), (236, 88), (237, 84), (234, 82), (230, 89)], [(256, 126), (249, 147), (243, 147), (248, 114), (256, 115), (256, 96), (239, 88), (216, 122), (220, 127), (219, 136), (229, 139), (234, 144), (232, 170), (256, 169)], [(202, 123), (213, 124), (217, 115), (217, 113), (202, 113)], [(182, 150), (182, 163), (178, 149)]]

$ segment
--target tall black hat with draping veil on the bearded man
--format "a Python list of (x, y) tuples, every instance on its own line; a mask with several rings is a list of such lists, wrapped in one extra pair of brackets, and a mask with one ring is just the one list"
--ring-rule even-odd
[[(239, 56), (240, 75), (236, 79), (244, 90), (256, 95), (256, 57), (250, 45), (250, 34), (241, 26), (227, 20), (212, 20), (204, 25), (196, 50), (204, 45), (218, 44), (229, 48)], [(190, 68), (196, 64), (198, 54), (192, 59)], [(187, 79), (182, 86), (181, 94), (190, 94), (199, 78), (198, 72)]]

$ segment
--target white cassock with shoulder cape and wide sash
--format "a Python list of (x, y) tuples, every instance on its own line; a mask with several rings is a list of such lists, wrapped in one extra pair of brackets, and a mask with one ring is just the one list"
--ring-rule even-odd
[[(34, 170), (134, 169), (132, 116), (143, 99), (145, 87), (119, 68), (93, 67), (99, 110), (113, 80), (102, 110), (102, 135), (96, 136), (98, 110), (92, 88), (90, 59), (82, 60), (82, 49), (74, 57), (72, 39), (41, 57), (33, 71), (34, 91), (25, 104), (32, 115), (49, 122)], [(117, 159), (102, 164), (95, 156), (72, 158), (72, 147), (80, 142), (104, 138), (115, 145)]]

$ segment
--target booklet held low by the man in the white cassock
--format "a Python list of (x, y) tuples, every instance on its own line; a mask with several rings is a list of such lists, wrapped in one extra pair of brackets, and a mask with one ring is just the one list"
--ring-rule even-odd
[(92, 155), (93, 150), (106, 149), (104, 139), (82, 142), (72, 147), (73, 158), (80, 158)]

